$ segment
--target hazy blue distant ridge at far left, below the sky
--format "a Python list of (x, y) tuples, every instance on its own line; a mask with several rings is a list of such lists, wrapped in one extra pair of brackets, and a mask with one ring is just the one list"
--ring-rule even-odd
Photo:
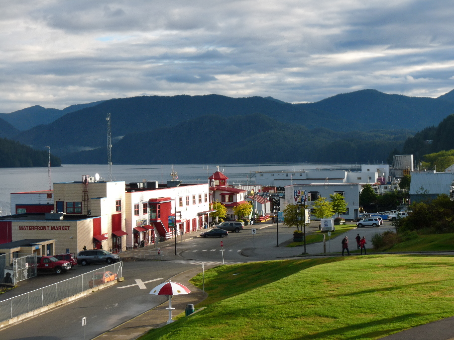
[(7, 121), (17, 130), (25, 131), (37, 125), (49, 124), (67, 113), (81, 110), (85, 107), (95, 106), (103, 101), (104, 100), (88, 104), (75, 104), (68, 106), (63, 110), (34, 105), (11, 113), (0, 113), (0, 118)]

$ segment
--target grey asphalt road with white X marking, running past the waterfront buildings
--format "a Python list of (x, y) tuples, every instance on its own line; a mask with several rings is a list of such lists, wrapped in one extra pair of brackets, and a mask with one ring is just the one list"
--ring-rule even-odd
[[(308, 228), (309, 231), (318, 230), (318, 224)], [(380, 228), (362, 228), (358, 232), (368, 236), (374, 232), (382, 232), (390, 226)], [(252, 234), (252, 229), (256, 234)], [(382, 230), (383, 229), (383, 230)], [(242, 263), (257, 260), (273, 260), (300, 255), (302, 247), (286, 248), (285, 245), (292, 239), (294, 228), (279, 225), (278, 236), (280, 247), (277, 245), (276, 225), (257, 224), (247, 226), (239, 233), (230, 232), (227, 237), (220, 238), (189, 238), (177, 244), (175, 255), (174, 244), (170, 242), (160, 244), (164, 254), (163, 261), (125, 262), (123, 266), (124, 282), (102, 289), (93, 294), (76, 300), (73, 303), (61, 306), (35, 318), (25, 320), (0, 331), (2, 340), (80, 340), (83, 339), (84, 329), (82, 318), (87, 318), (87, 339), (92, 339), (105, 331), (127, 321), (166, 301), (165, 296), (149, 294), (150, 290), (159, 283), (169, 279), (177, 273), (200, 266), (204, 262), (207, 266), (224, 263)], [(356, 235), (357, 230), (350, 233)], [(196, 234), (191, 234), (195, 236)], [(354, 241), (354, 237), (349, 235)], [(332, 240), (337, 245), (336, 239)], [(220, 242), (224, 247), (221, 248)], [(340, 245), (340, 239), (339, 239)], [(338, 245), (338, 246), (339, 246)], [(332, 249), (339, 252), (339, 249)], [(351, 247), (352, 248), (352, 247)], [(224, 252), (222, 252), (224, 250)], [(307, 252), (319, 254), (321, 244), (308, 245)], [(94, 270), (100, 265), (76, 267), (71, 273), (75, 276), (85, 271)], [(64, 274), (64, 275), (66, 275)], [(45, 286), (52, 281), (65, 279), (64, 275), (40, 275), (37, 278), (23, 283), (20, 293)], [(49, 283), (50, 282), (50, 283)], [(33, 289), (31, 289), (33, 288)], [(14, 289), (14, 295), (17, 294)], [(4, 298), (12, 296), (2, 294)], [(8, 296), (9, 295), (9, 296)]]

